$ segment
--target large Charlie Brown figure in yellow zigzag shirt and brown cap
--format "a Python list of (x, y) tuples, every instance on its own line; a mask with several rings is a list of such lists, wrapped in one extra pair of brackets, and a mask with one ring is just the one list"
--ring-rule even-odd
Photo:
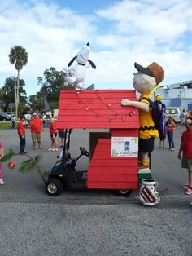
[(134, 66), (138, 72), (133, 73), (133, 87), (141, 96), (137, 101), (122, 99), (121, 104), (139, 109), (139, 169), (144, 169), (149, 167), (149, 153), (154, 150), (155, 137), (159, 137), (151, 116), (150, 103), (146, 98), (150, 99), (159, 88), (158, 84), (164, 79), (164, 69), (156, 62), (146, 68), (137, 63)]

